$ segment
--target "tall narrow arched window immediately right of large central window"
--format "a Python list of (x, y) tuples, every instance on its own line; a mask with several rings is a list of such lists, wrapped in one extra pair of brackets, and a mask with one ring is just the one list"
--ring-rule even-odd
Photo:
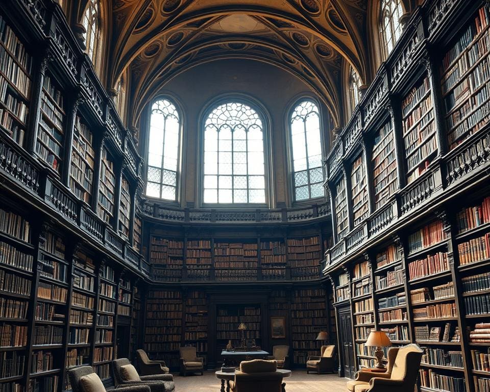
[(303, 101), (293, 110), (290, 133), (295, 200), (323, 197), (320, 114), (314, 102)]

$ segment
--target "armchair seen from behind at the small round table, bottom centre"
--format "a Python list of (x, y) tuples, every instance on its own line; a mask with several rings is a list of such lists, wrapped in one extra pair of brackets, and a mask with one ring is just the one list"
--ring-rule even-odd
[(230, 381), (232, 392), (281, 392), (283, 375), (274, 360), (254, 359), (242, 361), (235, 380)]

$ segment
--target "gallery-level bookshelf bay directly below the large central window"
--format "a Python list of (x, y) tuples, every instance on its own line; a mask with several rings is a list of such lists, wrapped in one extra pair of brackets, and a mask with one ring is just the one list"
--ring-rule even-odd
[(216, 281), (257, 280), (258, 251), (254, 242), (214, 241)]

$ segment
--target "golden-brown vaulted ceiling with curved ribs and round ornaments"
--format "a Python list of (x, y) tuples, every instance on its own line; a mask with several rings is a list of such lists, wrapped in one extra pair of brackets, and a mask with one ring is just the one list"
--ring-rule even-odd
[(265, 61), (303, 80), (338, 124), (342, 58), (365, 82), (367, 0), (115, 0), (109, 82), (129, 69), (130, 113), (171, 78), (224, 58)]

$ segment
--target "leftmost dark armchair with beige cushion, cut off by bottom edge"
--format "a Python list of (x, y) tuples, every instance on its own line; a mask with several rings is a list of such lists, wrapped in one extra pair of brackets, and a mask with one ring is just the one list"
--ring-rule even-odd
[[(92, 392), (106, 392), (106, 388), (101, 379), (93, 371), (92, 366), (72, 367), (68, 370), (68, 379), (70, 380), (71, 390), (73, 392), (84, 392), (90, 390)], [(115, 389), (110, 389), (107, 392), (115, 392)], [(122, 388), (117, 388), (117, 392), (151, 392), (148, 385), (133, 385)]]

